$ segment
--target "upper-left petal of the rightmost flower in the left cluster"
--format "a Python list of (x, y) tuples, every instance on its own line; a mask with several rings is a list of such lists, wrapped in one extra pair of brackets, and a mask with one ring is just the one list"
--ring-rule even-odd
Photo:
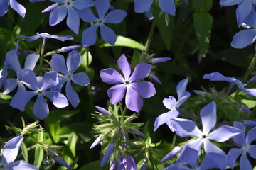
[(54, 54), (50, 60), (50, 67), (56, 72), (68, 75), (63, 55)]

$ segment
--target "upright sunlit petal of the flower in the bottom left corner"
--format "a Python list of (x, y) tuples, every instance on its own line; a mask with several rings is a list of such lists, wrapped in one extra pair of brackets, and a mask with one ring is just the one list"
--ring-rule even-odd
[(18, 155), (18, 150), (21, 147), (21, 143), (23, 141), (23, 137), (16, 136), (6, 142), (6, 145), (4, 145), (3, 152), (1, 154), (1, 165), (9, 164), (11, 162), (14, 162)]

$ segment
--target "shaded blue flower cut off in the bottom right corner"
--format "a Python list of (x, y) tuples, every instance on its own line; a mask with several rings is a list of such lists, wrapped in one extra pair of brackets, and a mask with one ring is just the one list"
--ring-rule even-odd
[(242, 130), (240, 135), (233, 137), (233, 141), (240, 147), (240, 148), (232, 148), (228, 152), (228, 166), (231, 168), (234, 167), (236, 159), (242, 154), (240, 157), (240, 169), (241, 170), (252, 170), (252, 165), (250, 164), (249, 159), (247, 158), (247, 154), (251, 157), (256, 159), (256, 145), (251, 145), (252, 141), (256, 139), (256, 128), (252, 128), (246, 132), (246, 126), (242, 125), (242, 123), (234, 122), (234, 127)]

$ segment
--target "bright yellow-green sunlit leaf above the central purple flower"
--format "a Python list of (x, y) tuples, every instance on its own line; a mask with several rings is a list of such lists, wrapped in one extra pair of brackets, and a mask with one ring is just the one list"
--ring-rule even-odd
[(114, 46), (122, 46), (122, 47), (131, 47), (139, 50), (144, 49), (144, 45), (141, 43), (132, 40), (131, 38), (126, 38), (121, 35), (117, 35), (117, 41), (115, 42), (114, 45), (110, 45), (109, 43), (104, 43), (100, 45), (100, 47), (114, 47)]

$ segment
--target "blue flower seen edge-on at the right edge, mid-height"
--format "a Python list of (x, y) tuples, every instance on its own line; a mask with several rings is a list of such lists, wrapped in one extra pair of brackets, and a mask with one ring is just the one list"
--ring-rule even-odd
[(236, 84), (238, 88), (243, 91), (245, 94), (249, 94), (250, 96), (256, 96), (256, 89), (247, 89), (245, 86), (247, 84), (242, 84), (242, 82), (238, 79), (235, 79), (234, 77), (225, 77), (223, 74), (220, 74), (219, 72), (212, 72), (210, 74), (205, 74), (203, 76), (203, 79), (209, 79), (210, 81), (228, 81), (233, 84)]

